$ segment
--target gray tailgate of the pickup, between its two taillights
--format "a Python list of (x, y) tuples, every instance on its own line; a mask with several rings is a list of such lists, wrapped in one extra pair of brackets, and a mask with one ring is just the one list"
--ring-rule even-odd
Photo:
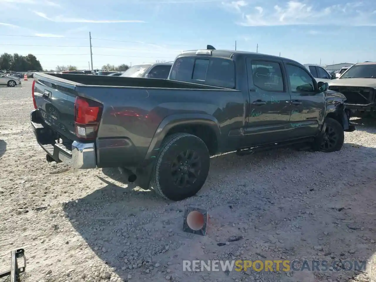
[(74, 129), (76, 84), (65, 79), (46, 79), (38, 74), (34, 79), (34, 97), (40, 118), (67, 139), (77, 139)]

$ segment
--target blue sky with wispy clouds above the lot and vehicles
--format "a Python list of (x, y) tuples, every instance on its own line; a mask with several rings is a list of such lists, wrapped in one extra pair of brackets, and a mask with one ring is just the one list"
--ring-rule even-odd
[[(0, 0), (0, 53), (45, 69), (173, 61), (182, 50), (235, 49), (301, 63), (376, 61), (376, 1)], [(12, 35), (12, 36), (6, 36)], [(39, 45), (39, 46), (38, 46)]]

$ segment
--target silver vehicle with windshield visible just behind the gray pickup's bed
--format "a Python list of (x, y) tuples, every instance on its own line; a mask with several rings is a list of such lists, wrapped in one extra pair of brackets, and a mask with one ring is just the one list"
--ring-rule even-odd
[(173, 62), (134, 65), (127, 69), (121, 76), (167, 79), (172, 64)]

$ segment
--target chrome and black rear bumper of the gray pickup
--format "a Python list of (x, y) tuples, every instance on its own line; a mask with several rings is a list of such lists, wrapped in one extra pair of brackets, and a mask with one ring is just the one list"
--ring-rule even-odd
[[(30, 114), (31, 127), (39, 146), (56, 162), (64, 162), (73, 168), (96, 168), (96, 148), (94, 143), (81, 143), (73, 141), (72, 144), (56, 143), (48, 144), (46, 138), (49, 129), (42, 123), (38, 123), (36, 110)], [(46, 144), (47, 143), (47, 144)]]

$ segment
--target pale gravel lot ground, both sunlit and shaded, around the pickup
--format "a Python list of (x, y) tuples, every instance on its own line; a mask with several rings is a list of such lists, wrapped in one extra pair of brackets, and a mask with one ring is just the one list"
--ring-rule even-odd
[[(340, 152), (278, 150), (212, 158), (196, 197), (168, 202), (116, 169), (47, 163), (29, 125), (32, 81), (0, 87), (0, 265), (24, 248), (24, 281), (372, 281), (376, 128), (356, 119)], [(368, 125), (367, 125), (368, 124)], [(182, 232), (206, 208), (206, 236)], [(243, 239), (224, 246), (229, 237)], [(183, 272), (194, 259), (367, 260), (367, 270)], [(372, 271), (373, 270), (373, 271)]]

